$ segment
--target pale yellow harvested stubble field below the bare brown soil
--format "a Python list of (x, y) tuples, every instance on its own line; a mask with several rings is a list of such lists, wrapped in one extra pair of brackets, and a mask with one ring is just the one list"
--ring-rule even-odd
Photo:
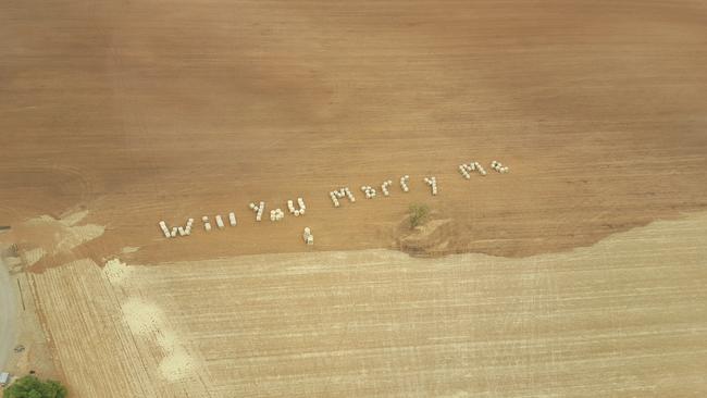
[(698, 397), (705, 259), (703, 214), (524, 259), (83, 260), (33, 281), (79, 397)]

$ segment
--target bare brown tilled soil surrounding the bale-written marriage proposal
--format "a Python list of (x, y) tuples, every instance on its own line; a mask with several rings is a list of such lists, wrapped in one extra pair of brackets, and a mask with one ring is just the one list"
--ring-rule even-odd
[[(87, 4), (0, 5), (1, 224), (89, 210), (76, 258), (309, 250), (306, 225), (313, 250), (397, 247), (412, 201), (452, 220), (446, 251), (519, 257), (707, 206), (704, 3)], [(511, 173), (456, 171), (494, 159)], [(402, 174), (410, 195), (328, 202)], [(276, 225), (247, 208), (300, 195)]]

